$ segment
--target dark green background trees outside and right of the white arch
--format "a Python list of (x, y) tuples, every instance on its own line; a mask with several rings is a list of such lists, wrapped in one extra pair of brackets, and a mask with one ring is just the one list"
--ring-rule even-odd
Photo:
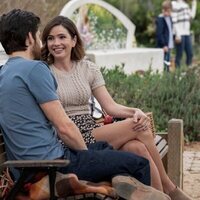
[[(163, 0), (105, 0), (121, 10), (135, 25), (139, 45), (155, 46), (155, 19), (161, 13)], [(197, 1), (197, 14), (192, 20), (196, 42), (200, 43), (200, 3)]]

